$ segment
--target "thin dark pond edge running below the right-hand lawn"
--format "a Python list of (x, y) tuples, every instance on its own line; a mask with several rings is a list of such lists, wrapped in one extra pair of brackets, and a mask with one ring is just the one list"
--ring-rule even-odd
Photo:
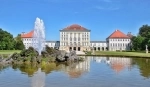
[(131, 57), (131, 58), (150, 58), (146, 56), (128, 56), (128, 55), (78, 55), (78, 56), (106, 56), (106, 57)]

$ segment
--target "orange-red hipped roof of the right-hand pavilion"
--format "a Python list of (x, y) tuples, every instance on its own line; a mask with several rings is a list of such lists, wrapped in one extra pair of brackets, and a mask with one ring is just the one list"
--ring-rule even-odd
[(108, 38), (130, 38), (120, 30), (115, 30)]

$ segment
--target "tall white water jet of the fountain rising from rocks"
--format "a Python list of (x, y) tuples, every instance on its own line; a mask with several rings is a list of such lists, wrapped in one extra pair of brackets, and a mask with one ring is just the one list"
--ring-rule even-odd
[(32, 45), (41, 55), (41, 51), (45, 48), (45, 27), (43, 20), (40, 18), (36, 18), (35, 21)]

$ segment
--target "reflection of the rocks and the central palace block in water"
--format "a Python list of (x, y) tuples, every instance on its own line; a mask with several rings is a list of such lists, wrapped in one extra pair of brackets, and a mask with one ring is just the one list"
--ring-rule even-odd
[(52, 71), (63, 71), (71, 78), (78, 78), (84, 73), (90, 71), (90, 58), (85, 58), (83, 62), (58, 64), (58, 63), (42, 63), (42, 64), (14, 64), (13, 69), (19, 69), (23, 74), (29, 77), (38, 77), (41, 74), (50, 74)]

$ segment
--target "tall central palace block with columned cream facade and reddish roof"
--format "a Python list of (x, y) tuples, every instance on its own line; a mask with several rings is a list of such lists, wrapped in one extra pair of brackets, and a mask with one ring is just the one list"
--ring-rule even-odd
[(90, 50), (90, 30), (77, 24), (60, 30), (60, 50)]

